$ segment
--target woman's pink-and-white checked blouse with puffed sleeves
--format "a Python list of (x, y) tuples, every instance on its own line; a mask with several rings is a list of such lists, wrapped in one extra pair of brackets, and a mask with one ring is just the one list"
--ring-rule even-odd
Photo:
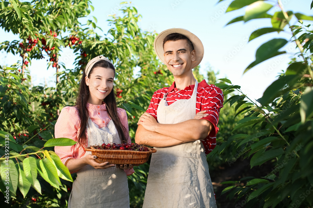
[[(103, 128), (110, 122), (111, 118), (106, 110), (105, 104), (102, 105), (94, 105), (87, 103), (87, 110), (89, 113), (89, 117), (92, 122), (97, 124), (99, 128)], [(125, 126), (126, 131), (124, 132), (125, 138), (127, 139), (127, 143), (131, 143), (131, 138), (128, 132), (128, 123), (127, 123), (127, 114), (124, 109), (117, 108), (118, 116)], [(78, 114), (78, 109), (75, 106), (66, 106), (62, 109), (57, 122), (54, 127), (54, 136), (55, 138), (69, 138), (73, 139), (77, 142), (78, 135), (80, 132), (80, 117)], [(85, 130), (87, 140), (87, 129)], [(80, 145), (76, 143), (73, 146), (56, 146), (54, 147), (55, 153), (60, 157), (63, 164), (69, 159), (80, 159), (85, 155), (85, 147), (87, 147), (87, 143)], [(78, 170), (77, 170), (78, 171)], [(77, 172), (74, 171), (74, 172)], [(126, 175), (131, 175), (134, 173), (133, 168), (124, 170)], [(74, 173), (71, 172), (71, 173)]]

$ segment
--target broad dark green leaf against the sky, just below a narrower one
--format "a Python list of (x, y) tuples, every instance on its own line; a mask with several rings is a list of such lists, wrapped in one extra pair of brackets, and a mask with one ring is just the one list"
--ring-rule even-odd
[(261, 45), (255, 53), (255, 61), (244, 70), (244, 73), (264, 60), (286, 53), (286, 51), (279, 52), (278, 49), (285, 46), (287, 42), (285, 39), (275, 38)]

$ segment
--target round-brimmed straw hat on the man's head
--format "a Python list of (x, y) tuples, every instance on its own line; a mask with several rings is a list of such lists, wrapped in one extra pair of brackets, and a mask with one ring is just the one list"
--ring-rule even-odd
[(191, 67), (192, 69), (198, 66), (203, 58), (204, 54), (204, 48), (202, 45), (202, 42), (200, 39), (195, 36), (193, 33), (186, 29), (182, 28), (172, 28), (172, 29), (167, 29), (159, 33), (159, 35), (156, 36), (156, 39), (154, 40), (153, 46), (154, 46), (154, 51), (156, 52), (156, 55), (159, 57), (159, 59), (164, 63), (164, 50), (163, 50), (163, 40), (166, 36), (172, 33), (179, 33), (184, 36), (186, 36), (193, 45), (193, 48), (196, 52), (196, 59), (192, 61)]

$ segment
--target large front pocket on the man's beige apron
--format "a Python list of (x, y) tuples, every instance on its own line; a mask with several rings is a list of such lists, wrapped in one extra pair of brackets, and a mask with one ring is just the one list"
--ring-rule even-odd
[[(161, 152), (160, 152), (161, 153)], [(153, 154), (148, 183), (180, 184), (196, 187), (200, 154), (175, 151)]]

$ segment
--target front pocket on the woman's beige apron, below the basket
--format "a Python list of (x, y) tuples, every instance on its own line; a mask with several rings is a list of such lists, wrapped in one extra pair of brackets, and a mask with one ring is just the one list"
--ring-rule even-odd
[(127, 176), (121, 169), (104, 171), (98, 176), (85, 176), (86, 205), (105, 204), (128, 199)]

